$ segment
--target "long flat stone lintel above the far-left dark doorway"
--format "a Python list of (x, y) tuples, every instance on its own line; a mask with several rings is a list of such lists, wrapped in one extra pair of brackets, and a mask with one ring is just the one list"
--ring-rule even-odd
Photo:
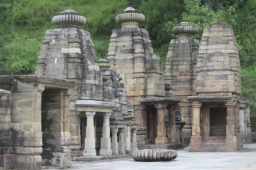
[(71, 81), (63, 78), (53, 78), (37, 75), (15, 75), (15, 79), (20, 81), (34, 82), (35, 85), (44, 85), (47, 88), (75, 89), (83, 84), (83, 82)]

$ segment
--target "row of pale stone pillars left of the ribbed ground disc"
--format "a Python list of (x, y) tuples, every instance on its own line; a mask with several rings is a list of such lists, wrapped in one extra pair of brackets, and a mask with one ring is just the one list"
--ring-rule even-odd
[[(96, 157), (95, 150), (95, 135), (94, 135), (94, 123), (93, 117), (96, 112), (85, 112), (87, 117), (86, 124), (86, 135), (85, 135), (85, 146), (84, 146), (84, 157)], [(111, 156), (111, 155), (125, 155), (125, 150), (135, 151), (137, 150), (137, 130), (131, 129), (132, 132), (132, 142), (129, 140), (130, 130), (127, 135), (124, 135), (124, 132), (127, 132), (126, 128), (110, 128), (109, 118), (111, 113), (102, 113), (103, 117), (103, 126), (102, 126), (102, 137), (100, 143), (100, 156)], [(112, 136), (110, 138), (110, 130)], [(119, 131), (119, 142), (117, 142), (117, 133)], [(125, 140), (126, 138), (126, 140)], [(129, 144), (130, 143), (130, 144)]]

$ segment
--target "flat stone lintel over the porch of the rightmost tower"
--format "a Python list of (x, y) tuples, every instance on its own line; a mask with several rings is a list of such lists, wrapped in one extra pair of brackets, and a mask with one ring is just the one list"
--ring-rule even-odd
[(214, 102), (214, 101), (239, 101), (240, 97), (238, 96), (189, 96), (187, 99), (190, 102), (201, 101), (201, 102)]

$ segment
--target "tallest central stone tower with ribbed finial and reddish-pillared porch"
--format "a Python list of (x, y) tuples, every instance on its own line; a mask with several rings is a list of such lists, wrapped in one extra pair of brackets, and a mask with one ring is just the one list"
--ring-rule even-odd
[[(116, 16), (116, 22), (122, 28), (112, 31), (108, 60), (111, 68), (122, 76), (127, 100), (134, 106), (135, 121), (140, 122), (138, 148), (143, 149), (148, 144), (180, 144), (179, 129), (183, 125), (177, 128), (176, 133), (174, 112), (179, 100), (165, 96), (160, 57), (154, 54), (148, 32), (139, 28), (144, 20), (145, 16), (132, 7)], [(164, 110), (169, 112), (168, 128), (165, 128)], [(168, 147), (171, 148), (171, 145)]]

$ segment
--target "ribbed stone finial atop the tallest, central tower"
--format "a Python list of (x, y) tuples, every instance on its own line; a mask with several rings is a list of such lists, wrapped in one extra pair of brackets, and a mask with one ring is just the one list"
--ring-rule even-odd
[(145, 15), (132, 7), (127, 7), (116, 16), (116, 22), (121, 23), (122, 28), (136, 28), (145, 21)]

